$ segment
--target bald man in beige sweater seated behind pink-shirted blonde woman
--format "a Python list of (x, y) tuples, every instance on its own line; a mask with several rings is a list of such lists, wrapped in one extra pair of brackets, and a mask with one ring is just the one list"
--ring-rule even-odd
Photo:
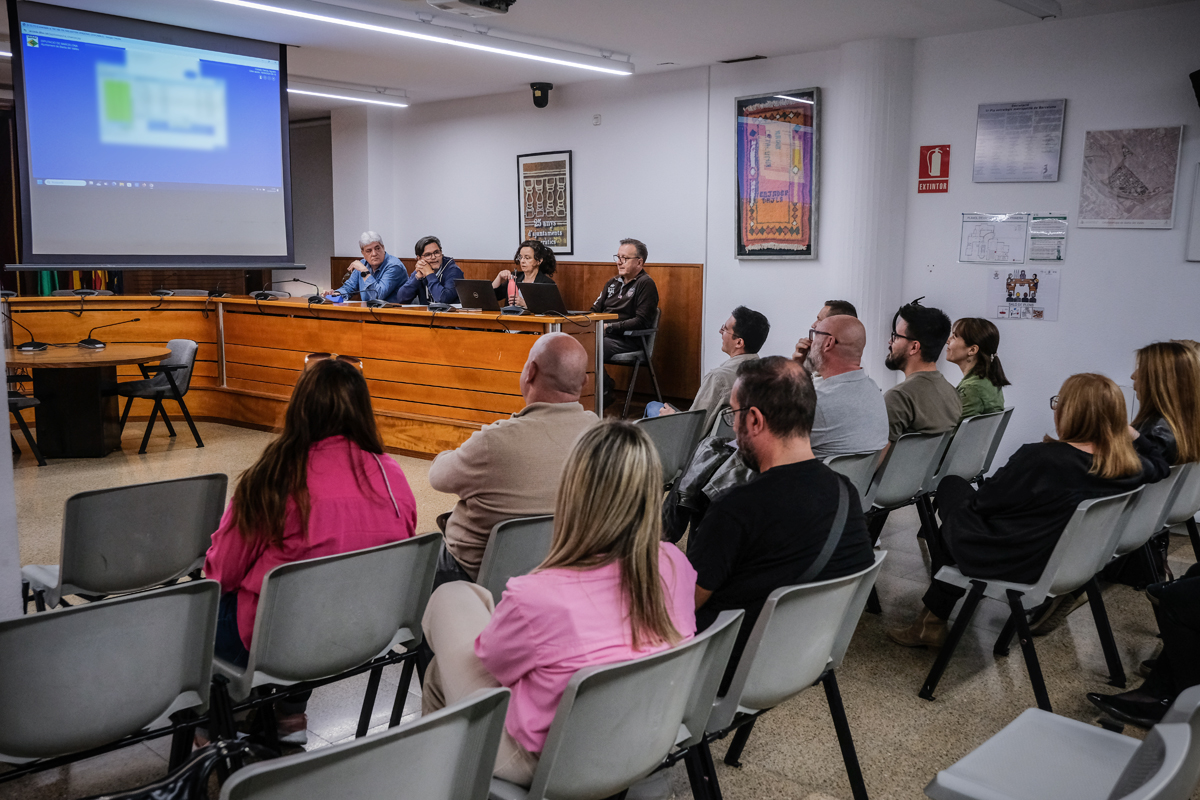
[(439, 583), (461, 578), (452, 575), (456, 567), (472, 581), (479, 576), (496, 523), (554, 512), (566, 455), (599, 419), (580, 403), (587, 366), (587, 350), (571, 336), (541, 336), (521, 371), (526, 407), (433, 459), (430, 486), (458, 495), (446, 521)]

